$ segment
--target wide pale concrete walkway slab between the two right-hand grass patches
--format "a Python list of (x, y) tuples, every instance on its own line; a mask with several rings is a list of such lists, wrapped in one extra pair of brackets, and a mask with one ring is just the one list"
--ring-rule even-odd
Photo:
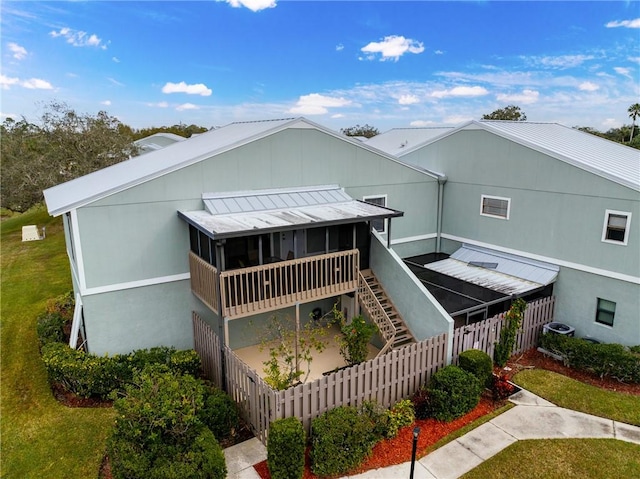
[(613, 421), (560, 407), (514, 407), (490, 421), (517, 439), (614, 437)]

